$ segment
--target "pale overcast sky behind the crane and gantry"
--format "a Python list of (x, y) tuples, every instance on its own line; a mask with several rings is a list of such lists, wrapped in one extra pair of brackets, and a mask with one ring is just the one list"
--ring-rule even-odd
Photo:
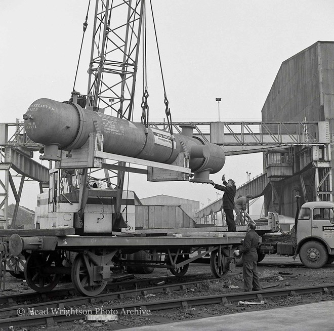
[[(222, 98), (222, 121), (261, 120), (281, 63), (318, 40), (334, 39), (332, 0), (152, 0), (152, 4), (174, 120), (217, 121), (216, 97)], [(22, 119), (38, 98), (70, 98), (87, 6), (84, 0), (0, 1), (1, 122)], [(82, 93), (88, 85), (92, 11), (88, 23), (76, 85)], [(150, 116), (162, 120), (163, 90), (153, 62), (152, 55)], [(134, 110), (137, 119), (140, 101)], [(247, 180), (246, 171), (251, 178), (263, 172), (261, 153), (228, 156), (212, 179), (220, 183), (225, 173), (240, 186)], [(37, 187), (26, 185), (22, 205), (35, 208)], [(140, 198), (168, 194), (204, 204), (217, 198), (211, 185), (148, 183), (143, 175), (130, 174), (129, 189)]]

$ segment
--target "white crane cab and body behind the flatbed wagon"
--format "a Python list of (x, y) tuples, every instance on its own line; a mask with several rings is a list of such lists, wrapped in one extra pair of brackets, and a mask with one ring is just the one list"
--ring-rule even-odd
[(131, 233), (135, 230), (134, 192), (123, 192), (121, 210), (124, 211), (122, 226), (113, 221), (115, 191), (103, 187), (103, 183), (86, 183), (88, 198), (83, 206), (84, 214), (78, 219), (80, 181), (78, 170), (50, 170), (50, 185), (46, 192), (37, 195), (35, 227), (53, 229), (74, 227), (77, 233)]

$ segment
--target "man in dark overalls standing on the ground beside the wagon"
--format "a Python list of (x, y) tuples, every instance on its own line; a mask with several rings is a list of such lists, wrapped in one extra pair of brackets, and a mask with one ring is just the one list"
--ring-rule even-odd
[(258, 273), (258, 253), (259, 235), (255, 232), (256, 224), (247, 224), (247, 233), (242, 242), (242, 247), (234, 251), (235, 256), (242, 254), (242, 275), (244, 292), (260, 291), (261, 284)]

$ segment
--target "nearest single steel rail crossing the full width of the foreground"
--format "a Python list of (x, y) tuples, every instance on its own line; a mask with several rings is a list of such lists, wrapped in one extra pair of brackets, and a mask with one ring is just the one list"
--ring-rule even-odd
[[(312, 293), (326, 293), (334, 290), (334, 284), (322, 284), (319, 286), (308, 286), (308, 287), (293, 287), (293, 288), (282, 288), (282, 289), (271, 289), (265, 291), (257, 292), (242, 292), (242, 293), (223, 293), (215, 296), (202, 296), (202, 297), (190, 297), (190, 298), (179, 298), (173, 300), (163, 300), (163, 301), (150, 301), (150, 302), (136, 302), (126, 305), (117, 305), (117, 306), (105, 306), (103, 309), (105, 311), (117, 311), (121, 312), (124, 310), (135, 310), (144, 311), (156, 311), (164, 309), (173, 309), (173, 308), (187, 308), (189, 306), (199, 306), (199, 305), (208, 305), (208, 304), (223, 304), (231, 305), (233, 301), (240, 300), (263, 300), (264, 298), (272, 297), (281, 297), (281, 296), (296, 296), (296, 295), (305, 295)], [(91, 301), (94, 298), (88, 298)], [(92, 303), (92, 302), (91, 302)], [(60, 306), (61, 308), (61, 306)], [(86, 309), (87, 311), (88, 309)], [(94, 308), (92, 308), (92, 313), (94, 314)], [(48, 326), (54, 325), (55, 322), (68, 322), (74, 321), (77, 319), (85, 319), (85, 314), (75, 314), (66, 316), (65, 312), (62, 314), (52, 314), (47, 310), (45, 314), (35, 314), (22, 317), (14, 318), (5, 318), (0, 319), (0, 327), (8, 328), (9, 326), (13, 327), (22, 327), (22, 326), (31, 326), (31, 325), (43, 325), (47, 324)]]

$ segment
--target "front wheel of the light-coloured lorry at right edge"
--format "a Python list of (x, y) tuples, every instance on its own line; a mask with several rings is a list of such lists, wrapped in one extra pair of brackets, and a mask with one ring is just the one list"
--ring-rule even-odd
[(327, 263), (328, 253), (320, 242), (307, 241), (302, 245), (299, 257), (305, 267), (321, 268)]

